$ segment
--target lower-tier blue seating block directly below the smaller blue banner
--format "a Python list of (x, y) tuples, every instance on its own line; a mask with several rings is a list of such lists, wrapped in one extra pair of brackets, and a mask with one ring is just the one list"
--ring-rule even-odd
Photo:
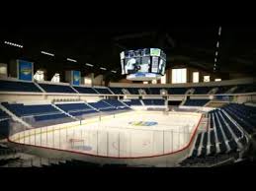
[(85, 102), (61, 103), (56, 104), (56, 106), (69, 113), (70, 115), (78, 117), (79, 119), (82, 119), (86, 114), (97, 112), (97, 110), (93, 109)]

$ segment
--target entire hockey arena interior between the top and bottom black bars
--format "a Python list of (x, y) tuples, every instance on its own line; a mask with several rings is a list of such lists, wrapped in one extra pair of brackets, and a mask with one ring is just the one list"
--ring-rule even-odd
[(255, 160), (255, 29), (4, 29), (1, 167)]

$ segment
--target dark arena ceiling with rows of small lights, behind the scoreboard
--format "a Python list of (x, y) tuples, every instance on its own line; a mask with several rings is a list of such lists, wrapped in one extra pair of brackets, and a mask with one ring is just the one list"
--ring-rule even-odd
[[(121, 79), (121, 51), (159, 47), (167, 54), (167, 68), (187, 65), (213, 72), (216, 58), (216, 73), (239, 72), (255, 76), (256, 27), (221, 25), (219, 35), (219, 25), (166, 26), (143, 29), (126, 25), (8, 27), (1, 31), (0, 62), (9, 62), (13, 58), (28, 59), (35, 62), (36, 70), (46, 68), (48, 76), (75, 69), (82, 71), (83, 76), (94, 72), (96, 76), (104, 74), (106, 78)], [(13, 47), (4, 41), (24, 47)], [(41, 51), (54, 56), (44, 55)], [(86, 63), (94, 67), (86, 66)], [(100, 67), (107, 70), (100, 70)]]

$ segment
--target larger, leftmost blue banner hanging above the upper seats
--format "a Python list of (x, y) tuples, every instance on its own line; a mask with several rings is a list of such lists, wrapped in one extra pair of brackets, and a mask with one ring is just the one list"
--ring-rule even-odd
[(17, 60), (18, 65), (18, 79), (24, 81), (33, 81), (33, 62), (24, 60)]

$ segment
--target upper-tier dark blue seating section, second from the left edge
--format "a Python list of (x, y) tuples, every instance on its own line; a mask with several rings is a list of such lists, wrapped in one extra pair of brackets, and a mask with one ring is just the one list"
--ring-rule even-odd
[(46, 93), (63, 93), (63, 94), (76, 94), (76, 92), (69, 86), (63, 85), (49, 85), (39, 84)]

